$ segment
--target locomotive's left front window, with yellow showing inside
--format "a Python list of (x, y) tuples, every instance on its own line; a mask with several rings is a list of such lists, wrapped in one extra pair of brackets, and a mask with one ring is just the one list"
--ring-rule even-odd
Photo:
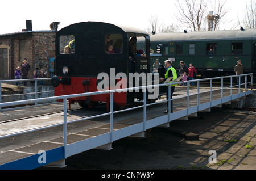
[(75, 36), (60, 36), (60, 54), (75, 53)]

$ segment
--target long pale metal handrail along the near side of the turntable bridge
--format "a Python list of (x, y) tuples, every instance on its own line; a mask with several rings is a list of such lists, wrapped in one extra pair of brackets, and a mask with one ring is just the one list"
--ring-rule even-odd
[[(247, 82), (247, 76), (250, 75), (251, 76), (251, 82)], [(253, 73), (250, 74), (243, 74), (243, 75), (231, 75), (231, 76), (227, 76), (227, 77), (216, 77), (216, 78), (206, 78), (206, 79), (196, 79), (196, 80), (191, 80), (191, 81), (185, 81), (184, 83), (189, 83), (189, 82), (197, 82), (197, 106), (199, 106), (200, 102), (199, 102), (199, 96), (200, 96), (200, 92), (199, 92), (199, 82), (201, 81), (210, 81), (210, 102), (212, 102), (212, 80), (213, 79), (221, 79), (221, 98), (223, 98), (223, 89), (225, 87), (223, 87), (223, 79), (224, 78), (230, 78), (230, 87), (231, 87), (231, 91), (230, 94), (232, 95), (232, 78), (233, 77), (238, 77), (239, 76), (239, 93), (240, 93), (240, 88), (241, 88), (241, 77), (245, 76), (245, 83), (243, 83), (243, 85), (245, 85), (245, 90), (247, 89), (247, 84), (251, 84), (251, 89), (252, 89), (252, 85), (253, 85)], [(30, 79), (28, 79), (30, 80)], [(16, 81), (16, 80), (14, 80)], [(2, 81), (3, 82), (3, 81)], [(8, 82), (8, 81), (5, 81)], [(1, 82), (0, 82), (1, 83)], [(15, 101), (15, 102), (7, 102), (7, 103), (0, 103), (0, 109), (1, 107), (7, 107), (7, 106), (18, 106), (21, 104), (32, 104), (32, 103), (38, 103), (38, 102), (46, 102), (46, 101), (53, 101), (53, 100), (61, 100), (63, 99), (63, 112), (64, 112), (64, 118), (63, 118), (63, 123), (59, 123), (59, 124), (54, 124), (54, 125), (48, 125), (46, 127), (41, 127), (41, 128), (35, 128), (35, 129), (31, 129), (28, 131), (22, 131), (22, 132), (18, 132), (18, 133), (11, 133), (11, 134), (6, 134), (3, 136), (0, 136), (1, 138), (6, 138), (6, 137), (10, 137), (10, 136), (16, 136), (18, 134), (23, 134), (23, 133), (28, 133), (28, 132), (33, 132), (33, 131), (37, 131), (39, 129), (46, 129), (46, 128), (51, 128), (51, 127), (56, 127), (59, 125), (64, 125), (64, 131), (63, 131), (63, 144), (64, 144), (64, 149), (67, 147), (67, 124), (69, 123), (74, 123), (76, 121), (82, 121), (82, 120), (87, 120), (87, 119), (92, 119), (92, 118), (96, 118), (96, 117), (101, 117), (101, 116), (106, 116), (106, 115), (110, 115), (110, 140), (113, 141), (113, 115), (114, 113), (119, 113), (119, 112), (125, 112), (125, 111), (129, 111), (129, 110), (134, 110), (137, 108), (143, 108), (143, 124), (144, 124), (144, 131), (146, 131), (146, 108), (147, 106), (151, 106), (154, 104), (158, 104), (158, 103), (163, 103), (163, 102), (168, 102), (169, 107), (171, 104), (171, 100), (175, 100), (175, 99), (180, 99), (180, 98), (184, 98), (187, 97), (187, 113), (189, 110), (189, 86), (187, 86), (187, 95), (180, 97), (180, 98), (173, 98), (173, 99), (169, 99), (168, 100), (162, 100), (156, 103), (151, 103), (151, 104), (146, 104), (146, 89), (147, 88), (151, 88), (152, 86), (155, 87), (162, 87), (162, 86), (168, 86), (169, 89), (169, 95), (171, 95), (171, 86), (170, 85), (174, 85), (177, 83), (183, 83), (183, 82), (175, 82), (175, 83), (162, 83), (162, 84), (158, 84), (158, 85), (148, 85), (148, 86), (141, 86), (141, 87), (131, 87), (131, 88), (125, 88), (125, 89), (117, 89), (117, 90), (105, 90), (105, 91), (97, 91), (97, 92), (86, 92), (86, 93), (81, 93), (81, 94), (72, 94), (72, 95), (61, 95), (61, 96), (53, 96), (53, 97), (49, 97), (49, 98), (38, 98), (38, 99), (30, 99), (30, 100), (20, 100), (20, 101)], [(0, 84), (1, 85), (1, 84)], [(143, 100), (143, 106), (137, 106), (137, 107), (133, 107), (133, 108), (127, 108), (125, 110), (119, 110), (119, 111), (114, 111), (113, 109), (113, 95), (114, 92), (122, 92), (122, 91), (130, 91), (130, 90), (139, 90), (142, 89), (143, 90), (143, 96), (144, 96), (144, 100)], [(77, 97), (81, 97), (81, 96), (93, 96), (93, 95), (99, 95), (99, 94), (110, 94), (110, 112), (108, 113), (104, 113), (101, 115), (96, 115), (96, 116), (90, 116), (90, 117), (85, 117), (83, 119), (79, 119), (79, 120), (72, 120), (72, 121), (67, 121), (67, 100), (70, 98), (77, 98)], [(193, 94), (196, 95), (196, 94)], [(168, 121), (170, 122), (170, 117), (171, 117), (171, 112), (169, 109), (168, 112)], [(65, 156), (65, 158), (67, 158)]]

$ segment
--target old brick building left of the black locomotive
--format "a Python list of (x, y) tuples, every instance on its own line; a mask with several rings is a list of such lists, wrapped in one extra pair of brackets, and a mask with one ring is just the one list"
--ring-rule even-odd
[(27, 31), (0, 35), (0, 79), (14, 79), (17, 66), (27, 58), (30, 65), (28, 78), (32, 71), (48, 71), (51, 77), (53, 64), (49, 61), (55, 57), (56, 31)]

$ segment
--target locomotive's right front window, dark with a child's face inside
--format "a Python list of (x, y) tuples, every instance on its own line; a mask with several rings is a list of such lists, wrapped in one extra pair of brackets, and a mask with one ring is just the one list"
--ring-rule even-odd
[(107, 54), (121, 54), (123, 51), (123, 36), (121, 34), (105, 35), (105, 52)]

